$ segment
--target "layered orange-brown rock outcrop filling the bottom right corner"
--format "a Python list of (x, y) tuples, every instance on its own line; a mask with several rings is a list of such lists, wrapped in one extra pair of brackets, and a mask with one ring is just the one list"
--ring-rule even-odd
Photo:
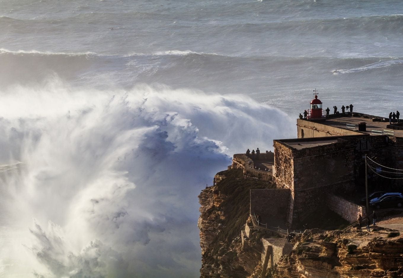
[(403, 238), (384, 238), (388, 232), (305, 231), (274, 277), (403, 277)]

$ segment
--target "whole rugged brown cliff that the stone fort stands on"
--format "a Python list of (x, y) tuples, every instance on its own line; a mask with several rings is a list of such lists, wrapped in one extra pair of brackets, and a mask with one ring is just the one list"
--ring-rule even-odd
[(245, 179), (240, 169), (220, 172), (215, 180), (199, 196), (201, 277), (403, 277), (403, 237), (381, 226), (370, 233), (306, 230), (291, 241), (291, 252), (266, 269), (270, 249), (263, 243), (280, 236), (253, 225), (249, 190), (273, 185)]

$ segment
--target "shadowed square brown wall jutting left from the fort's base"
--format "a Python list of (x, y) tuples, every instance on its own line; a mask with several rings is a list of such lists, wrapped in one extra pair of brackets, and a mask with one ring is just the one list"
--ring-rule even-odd
[(289, 189), (251, 189), (250, 214), (260, 214), (270, 226), (285, 223), (289, 210)]

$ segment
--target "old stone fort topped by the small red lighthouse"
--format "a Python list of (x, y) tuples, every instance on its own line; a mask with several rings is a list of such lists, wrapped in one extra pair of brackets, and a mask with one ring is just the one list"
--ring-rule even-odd
[[(274, 140), (274, 155), (234, 156), (232, 167), (242, 168), (245, 176), (276, 184), (277, 189), (251, 190), (250, 213), (259, 213), (262, 222), (301, 227), (327, 206), (354, 222), (366, 214), (365, 206), (349, 200), (365, 196), (365, 156), (403, 169), (403, 124), (357, 112), (326, 115), (317, 96), (307, 112), (306, 119), (297, 119), (297, 138)], [(401, 179), (376, 175), (380, 168), (368, 169), (370, 190), (401, 188)]]

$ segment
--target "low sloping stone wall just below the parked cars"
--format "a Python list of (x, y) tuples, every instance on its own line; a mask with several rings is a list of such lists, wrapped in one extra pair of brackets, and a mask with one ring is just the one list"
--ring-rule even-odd
[(340, 196), (336, 196), (334, 194), (327, 194), (326, 196), (327, 206), (345, 220), (350, 223), (354, 223), (357, 221), (358, 214), (364, 216), (366, 214), (366, 209), (364, 206), (359, 206), (341, 198)]

